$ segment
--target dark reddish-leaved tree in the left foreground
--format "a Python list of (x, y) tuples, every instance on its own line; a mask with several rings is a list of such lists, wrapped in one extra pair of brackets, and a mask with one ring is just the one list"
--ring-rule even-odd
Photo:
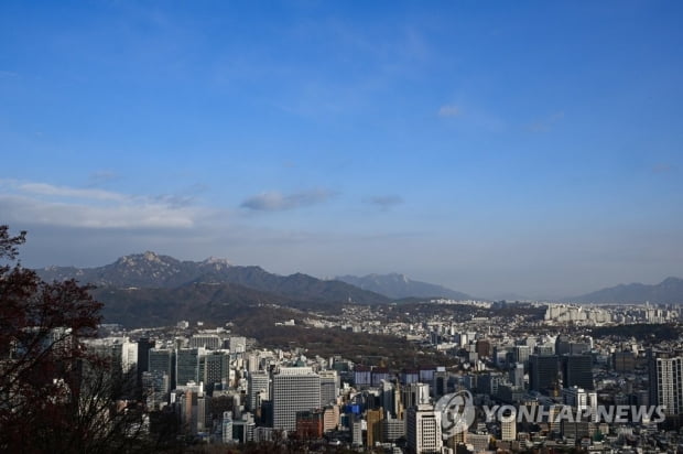
[(101, 304), (74, 280), (22, 268), (0, 226), (0, 452), (130, 451), (142, 412), (117, 407), (111, 364), (88, 352)]

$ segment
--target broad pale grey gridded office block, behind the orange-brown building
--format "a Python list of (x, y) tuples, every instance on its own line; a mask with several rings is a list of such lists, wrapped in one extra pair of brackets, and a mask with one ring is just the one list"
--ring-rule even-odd
[(282, 367), (273, 376), (273, 426), (296, 430), (296, 412), (321, 407), (321, 377), (310, 367)]

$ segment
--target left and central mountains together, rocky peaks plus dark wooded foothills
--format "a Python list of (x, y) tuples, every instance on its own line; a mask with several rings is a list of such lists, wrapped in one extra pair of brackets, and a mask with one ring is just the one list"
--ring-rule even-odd
[[(405, 296), (469, 298), (440, 285), (411, 281), (402, 274), (375, 275), (375, 285), (359, 288), (343, 280), (295, 273), (279, 275), (256, 266), (227, 260), (181, 261), (155, 252), (124, 256), (102, 267), (48, 267), (36, 270), (46, 281), (76, 279), (94, 284), (107, 323), (128, 327), (173, 325), (180, 320), (226, 321), (253, 317), (270, 307), (278, 317), (296, 311), (336, 311), (345, 303), (388, 304)], [(346, 277), (353, 281), (353, 277)], [(365, 279), (365, 278), (356, 278)], [(259, 307), (259, 311), (253, 311)], [(272, 323), (271, 323), (272, 325)]]

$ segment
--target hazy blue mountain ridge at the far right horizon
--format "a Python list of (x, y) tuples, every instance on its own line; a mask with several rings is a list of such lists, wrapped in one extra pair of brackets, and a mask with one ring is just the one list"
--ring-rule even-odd
[(683, 279), (666, 278), (653, 285), (642, 283), (619, 284), (564, 301), (575, 303), (644, 303), (682, 304)]

